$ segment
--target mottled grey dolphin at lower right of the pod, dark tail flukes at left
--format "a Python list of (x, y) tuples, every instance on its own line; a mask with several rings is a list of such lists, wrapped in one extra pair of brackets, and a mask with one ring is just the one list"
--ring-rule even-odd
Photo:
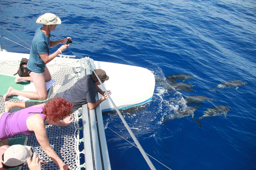
[(226, 114), (228, 113), (230, 108), (231, 107), (229, 107), (229, 106), (214, 106), (214, 107), (204, 111), (204, 115), (201, 116), (198, 120), (196, 120), (196, 119), (194, 119), (194, 120), (201, 127), (201, 123), (199, 122), (201, 119), (211, 117), (211, 116), (219, 116), (221, 114), (224, 114), (224, 116), (226, 117)]

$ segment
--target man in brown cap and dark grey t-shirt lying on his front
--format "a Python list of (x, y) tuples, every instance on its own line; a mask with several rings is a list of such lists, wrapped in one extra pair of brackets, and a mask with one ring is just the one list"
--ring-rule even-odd
[[(100, 78), (101, 82), (104, 83), (109, 79), (109, 76), (102, 69), (95, 69), (96, 74)], [(92, 74), (85, 75), (80, 78), (71, 88), (56, 94), (55, 97), (62, 97), (67, 101), (70, 101), (74, 104), (72, 112), (82, 107), (82, 105), (88, 105), (89, 109), (96, 108), (101, 102), (108, 98), (107, 94), (102, 91), (98, 85), (100, 85), (99, 80), (95, 76), (94, 72)], [(99, 100), (95, 100), (96, 92), (100, 93), (102, 97)], [(108, 91), (108, 94), (111, 94), (111, 91)], [(44, 102), (9, 102), (6, 101), (5, 112), (9, 112), (11, 108), (28, 108), (30, 106), (39, 105), (41, 103), (48, 103), (53, 98), (46, 100)]]

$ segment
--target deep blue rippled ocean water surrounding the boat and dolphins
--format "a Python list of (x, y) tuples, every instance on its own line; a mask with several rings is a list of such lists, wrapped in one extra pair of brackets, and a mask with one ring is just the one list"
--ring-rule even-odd
[[(255, 0), (1, 0), (0, 5), (0, 35), (15, 42), (26, 45), (2, 27), (31, 44), (36, 19), (50, 12), (62, 20), (51, 40), (73, 40), (63, 54), (151, 70), (152, 100), (122, 114), (144, 150), (170, 169), (256, 169)], [(7, 51), (29, 53), (2, 37), (0, 42)], [(170, 88), (165, 77), (179, 73), (196, 75), (184, 82), (196, 92)], [(216, 88), (217, 94), (209, 88), (231, 80), (247, 84)], [(215, 105), (230, 111), (203, 118), (201, 127), (191, 116), (165, 121), (195, 106), (184, 100), (195, 95), (216, 100), (204, 101), (195, 119)], [(132, 142), (118, 115), (104, 113), (103, 120), (112, 169), (149, 169), (139, 150), (109, 129)], [(151, 160), (156, 169), (167, 169)]]

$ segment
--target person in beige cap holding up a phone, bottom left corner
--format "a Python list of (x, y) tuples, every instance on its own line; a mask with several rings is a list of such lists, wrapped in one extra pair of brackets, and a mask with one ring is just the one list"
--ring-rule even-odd
[[(34, 160), (31, 160), (33, 158)], [(8, 168), (15, 168), (22, 166), (24, 163), (28, 163), (30, 170), (35, 169), (35, 165), (40, 166), (41, 163), (48, 164), (40, 161), (36, 156), (36, 153), (32, 152), (31, 146), (24, 145), (4, 145), (0, 147), (0, 170), (6, 170)]]

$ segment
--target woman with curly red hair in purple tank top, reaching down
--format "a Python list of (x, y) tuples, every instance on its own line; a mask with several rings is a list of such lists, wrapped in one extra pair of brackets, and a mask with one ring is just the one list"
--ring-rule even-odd
[[(61, 97), (54, 98), (48, 103), (35, 105), (22, 109), (15, 113), (0, 114), (0, 141), (7, 143), (10, 137), (17, 134), (31, 135), (35, 133), (36, 139), (47, 155), (60, 167), (61, 170), (71, 168), (66, 165), (50, 147), (46, 136), (44, 122), (54, 126), (69, 126), (73, 119), (72, 113), (74, 105)], [(64, 122), (60, 122), (64, 120)]]

